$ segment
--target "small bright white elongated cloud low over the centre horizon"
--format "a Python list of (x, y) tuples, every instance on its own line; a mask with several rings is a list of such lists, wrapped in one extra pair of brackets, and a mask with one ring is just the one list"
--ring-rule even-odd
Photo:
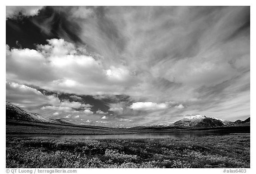
[(153, 103), (153, 102), (136, 102), (130, 106), (133, 110), (157, 110), (168, 108), (167, 104), (164, 103)]

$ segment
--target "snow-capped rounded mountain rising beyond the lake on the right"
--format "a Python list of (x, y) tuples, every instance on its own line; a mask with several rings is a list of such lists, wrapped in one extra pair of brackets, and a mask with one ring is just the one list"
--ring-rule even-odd
[(224, 123), (220, 119), (217, 120), (202, 115), (188, 116), (172, 124), (172, 126), (180, 128), (214, 128), (223, 125)]

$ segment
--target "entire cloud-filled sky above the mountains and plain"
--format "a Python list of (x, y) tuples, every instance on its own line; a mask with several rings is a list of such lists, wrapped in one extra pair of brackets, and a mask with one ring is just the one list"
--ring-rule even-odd
[(75, 124), (250, 116), (248, 6), (7, 6), (6, 101)]

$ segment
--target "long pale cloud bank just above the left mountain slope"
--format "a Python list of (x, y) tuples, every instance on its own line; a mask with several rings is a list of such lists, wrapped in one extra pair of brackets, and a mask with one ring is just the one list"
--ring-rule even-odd
[[(37, 89), (20, 85), (14, 82), (6, 82), (6, 101), (16, 104), (29, 112), (39, 113), (46, 118), (54, 118), (56, 113), (65, 113), (64, 118), (71, 118), (72, 114), (93, 114), (90, 104), (80, 102), (60, 101), (57, 95), (45, 96)], [(56, 113), (55, 113), (56, 112)], [(55, 114), (52, 114), (55, 113)]]

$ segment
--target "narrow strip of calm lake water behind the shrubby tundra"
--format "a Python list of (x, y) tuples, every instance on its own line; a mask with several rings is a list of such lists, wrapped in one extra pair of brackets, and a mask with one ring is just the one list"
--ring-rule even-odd
[(112, 134), (112, 135), (6, 135), (20, 138), (52, 138), (52, 139), (146, 139), (146, 138), (193, 138), (208, 135), (228, 135), (216, 132), (170, 132), (147, 134)]

